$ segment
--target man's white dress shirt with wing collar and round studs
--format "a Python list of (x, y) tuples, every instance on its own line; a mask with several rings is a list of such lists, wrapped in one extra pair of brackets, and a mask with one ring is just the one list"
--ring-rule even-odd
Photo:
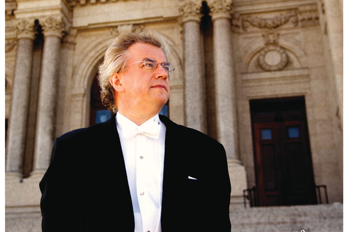
[[(154, 123), (154, 121), (156, 123)], [(140, 127), (158, 127), (156, 135), (137, 134)], [(166, 127), (158, 114), (137, 126), (124, 115), (116, 114), (117, 131), (125, 160), (130, 195), (132, 197), (135, 232), (161, 232), (161, 203), (163, 186), (164, 144)], [(135, 135), (129, 130), (135, 131)], [(147, 136), (148, 135), (148, 136)], [(150, 136), (150, 137), (149, 137)]]

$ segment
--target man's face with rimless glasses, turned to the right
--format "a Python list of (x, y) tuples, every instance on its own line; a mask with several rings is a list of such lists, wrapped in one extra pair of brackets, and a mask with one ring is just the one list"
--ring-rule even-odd
[[(117, 94), (121, 97), (122, 103), (126, 103), (127, 106), (159, 112), (168, 101), (170, 93), (168, 73), (160, 65), (167, 62), (163, 51), (146, 43), (134, 43), (128, 51), (130, 59), (127, 65), (129, 66), (124, 73), (118, 73), (123, 91)], [(158, 63), (156, 69), (150, 70), (144, 66), (143, 62), (139, 62), (146, 58)]]

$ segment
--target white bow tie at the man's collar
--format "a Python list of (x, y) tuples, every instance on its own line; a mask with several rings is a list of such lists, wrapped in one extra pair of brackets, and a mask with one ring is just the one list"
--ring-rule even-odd
[(137, 134), (144, 134), (150, 138), (158, 139), (160, 127), (156, 121), (145, 122), (140, 126), (122, 127), (122, 135), (126, 139), (132, 138)]

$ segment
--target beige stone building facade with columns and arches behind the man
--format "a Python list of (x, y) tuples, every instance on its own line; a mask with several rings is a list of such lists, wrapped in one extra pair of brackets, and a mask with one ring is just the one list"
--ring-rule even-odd
[(226, 149), (231, 208), (253, 186), (262, 206), (315, 185), (343, 202), (342, 18), (343, 0), (6, 0), (7, 230), (40, 230), (54, 138), (93, 124), (106, 48), (147, 29), (171, 48), (168, 117)]

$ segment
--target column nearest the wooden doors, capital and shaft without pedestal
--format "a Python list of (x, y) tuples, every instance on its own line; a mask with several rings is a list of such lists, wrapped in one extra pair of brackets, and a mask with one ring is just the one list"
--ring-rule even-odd
[(213, 21), (217, 138), (225, 147), (227, 158), (238, 160), (231, 13), (231, 1), (212, 1), (209, 14)]

